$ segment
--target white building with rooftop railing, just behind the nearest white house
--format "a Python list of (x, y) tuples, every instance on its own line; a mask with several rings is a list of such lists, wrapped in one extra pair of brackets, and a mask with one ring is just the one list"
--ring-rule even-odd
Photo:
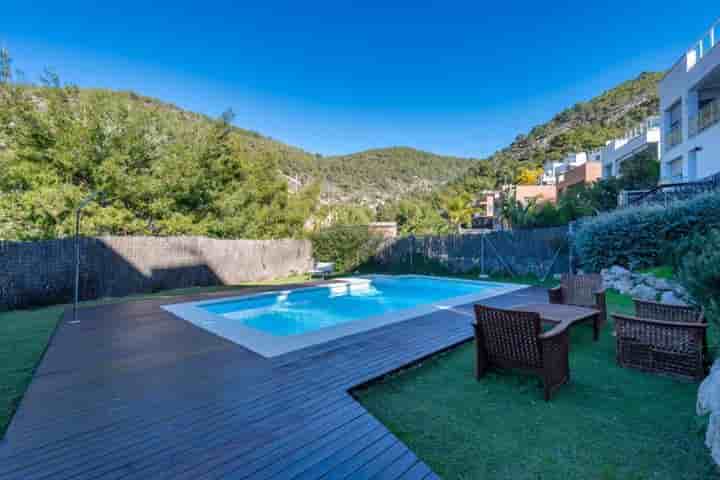
[(661, 158), (660, 117), (650, 117), (642, 124), (628, 130), (621, 138), (610, 140), (599, 155), (602, 162), (602, 178), (620, 176), (620, 166), (625, 160), (639, 154), (649, 153), (656, 160)]

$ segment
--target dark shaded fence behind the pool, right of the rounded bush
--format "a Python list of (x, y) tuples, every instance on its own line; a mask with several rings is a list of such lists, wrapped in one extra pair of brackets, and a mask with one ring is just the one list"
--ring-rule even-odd
[(486, 234), (403, 237), (384, 244), (375, 260), (412, 271), (420, 255), (451, 272), (505, 272), (544, 277), (569, 270), (568, 228), (494, 231)]

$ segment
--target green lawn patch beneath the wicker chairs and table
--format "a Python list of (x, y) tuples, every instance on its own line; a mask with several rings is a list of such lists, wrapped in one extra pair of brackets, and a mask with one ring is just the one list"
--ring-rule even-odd
[(611, 325), (597, 343), (591, 330), (571, 331), (572, 380), (549, 403), (535, 377), (477, 381), (473, 343), (355, 393), (445, 479), (717, 478), (697, 384), (619, 368)]

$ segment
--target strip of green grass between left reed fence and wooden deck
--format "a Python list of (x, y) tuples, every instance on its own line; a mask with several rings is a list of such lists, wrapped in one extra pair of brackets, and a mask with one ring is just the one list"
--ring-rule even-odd
[[(257, 285), (282, 285), (306, 281), (308, 281), (307, 276), (296, 276), (237, 286), (185, 288), (124, 298), (105, 298), (84, 302), (82, 305), (133, 302), (149, 298), (172, 298), (196, 293), (243, 290)], [(25, 394), (35, 367), (66, 307), (67, 305), (59, 305), (0, 313), (0, 438), (5, 433), (15, 409)]]

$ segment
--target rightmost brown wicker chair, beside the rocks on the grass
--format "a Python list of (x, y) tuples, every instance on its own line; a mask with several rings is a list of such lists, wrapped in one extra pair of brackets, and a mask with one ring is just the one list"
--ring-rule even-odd
[(634, 299), (635, 317), (613, 314), (617, 361), (623, 367), (700, 380), (705, 376), (707, 323), (701, 310)]

